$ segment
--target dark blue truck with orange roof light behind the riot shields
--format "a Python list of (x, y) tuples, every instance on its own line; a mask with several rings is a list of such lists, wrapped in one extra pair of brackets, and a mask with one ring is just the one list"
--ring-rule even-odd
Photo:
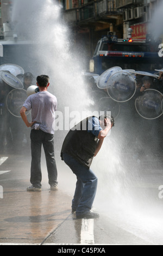
[(116, 35), (103, 36), (97, 42), (90, 60), (90, 72), (101, 75), (113, 66), (154, 72), (163, 66), (163, 58), (159, 56), (159, 43), (132, 38), (118, 39)]

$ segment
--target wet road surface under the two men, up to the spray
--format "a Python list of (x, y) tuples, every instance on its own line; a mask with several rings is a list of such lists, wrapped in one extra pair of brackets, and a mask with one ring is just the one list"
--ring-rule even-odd
[[(64, 165), (66, 170), (66, 166)], [(30, 155), (0, 155), (0, 245), (153, 245), (104, 212), (98, 220), (71, 214), (76, 179), (58, 163), (59, 189), (51, 191), (42, 162), (42, 191), (27, 192)], [(67, 185), (67, 186), (66, 186)], [(68, 187), (70, 190), (68, 190)], [(162, 203), (162, 202), (161, 202)], [(139, 233), (138, 233), (139, 234)]]

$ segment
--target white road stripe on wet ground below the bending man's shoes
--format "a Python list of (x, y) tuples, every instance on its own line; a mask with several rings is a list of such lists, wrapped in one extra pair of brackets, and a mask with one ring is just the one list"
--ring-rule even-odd
[(93, 244), (94, 242), (94, 220), (93, 218), (90, 219), (82, 219), (82, 229), (81, 229), (81, 240), (80, 243), (82, 244)]

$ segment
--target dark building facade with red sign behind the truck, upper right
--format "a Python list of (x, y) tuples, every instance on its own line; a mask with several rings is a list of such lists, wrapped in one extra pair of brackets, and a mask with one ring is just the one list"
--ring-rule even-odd
[(118, 38), (146, 39), (148, 22), (162, 0), (60, 0), (64, 19), (77, 42), (85, 44), (90, 56), (102, 35), (115, 32)]

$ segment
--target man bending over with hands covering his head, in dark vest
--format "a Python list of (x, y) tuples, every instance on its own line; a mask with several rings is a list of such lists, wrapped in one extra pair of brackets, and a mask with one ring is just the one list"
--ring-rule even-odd
[(97, 177), (90, 166), (112, 126), (114, 118), (108, 115), (86, 118), (68, 132), (62, 145), (61, 159), (77, 176), (72, 200), (72, 213), (76, 211), (77, 218), (99, 217), (90, 211), (97, 190)]

